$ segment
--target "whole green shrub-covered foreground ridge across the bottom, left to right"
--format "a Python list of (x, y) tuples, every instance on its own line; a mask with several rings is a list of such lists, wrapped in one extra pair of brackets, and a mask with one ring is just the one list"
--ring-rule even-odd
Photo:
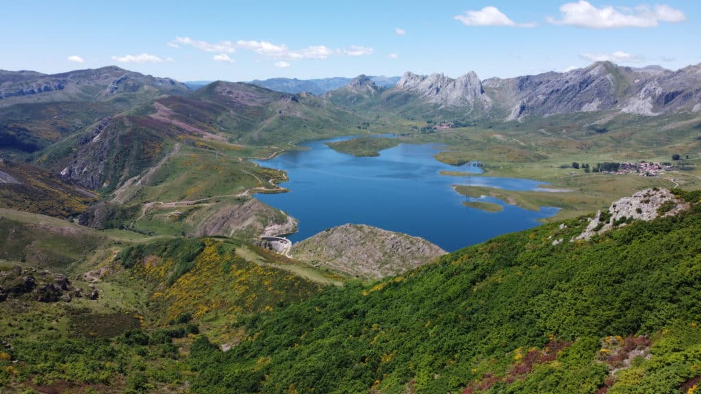
[(676, 192), (692, 203), (677, 217), (588, 242), (567, 241), (586, 217), (545, 224), (343, 287), (238, 241), (132, 243), (90, 264), (107, 269), (92, 282), (97, 301), (0, 304), (13, 316), (0, 319), (11, 344), (0, 384), (10, 393), (679, 393), (701, 379), (701, 197)]

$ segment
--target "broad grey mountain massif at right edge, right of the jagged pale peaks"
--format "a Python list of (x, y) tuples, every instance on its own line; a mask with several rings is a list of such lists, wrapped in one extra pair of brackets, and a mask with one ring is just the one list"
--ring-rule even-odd
[(701, 65), (672, 72), (596, 62), (566, 73), (488, 79), (483, 86), (508, 119), (587, 111), (646, 116), (701, 111)]

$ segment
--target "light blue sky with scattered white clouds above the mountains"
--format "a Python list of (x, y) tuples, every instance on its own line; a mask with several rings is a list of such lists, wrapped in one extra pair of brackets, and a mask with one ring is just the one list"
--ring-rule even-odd
[(2, 0), (0, 69), (180, 81), (701, 62), (701, 1)]

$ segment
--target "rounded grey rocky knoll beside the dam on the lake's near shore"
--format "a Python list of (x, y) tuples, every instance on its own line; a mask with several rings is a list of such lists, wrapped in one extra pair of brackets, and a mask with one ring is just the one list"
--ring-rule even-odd
[(393, 276), (445, 254), (423, 238), (343, 224), (292, 245), (292, 257), (360, 278)]

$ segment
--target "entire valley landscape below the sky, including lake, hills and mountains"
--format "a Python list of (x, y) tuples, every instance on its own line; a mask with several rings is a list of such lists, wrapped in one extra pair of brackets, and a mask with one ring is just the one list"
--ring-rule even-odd
[[(2, 72), (0, 389), (691, 387), (698, 67), (318, 95)], [(599, 170), (642, 161), (669, 164)], [(647, 189), (673, 194), (611, 205)]]

